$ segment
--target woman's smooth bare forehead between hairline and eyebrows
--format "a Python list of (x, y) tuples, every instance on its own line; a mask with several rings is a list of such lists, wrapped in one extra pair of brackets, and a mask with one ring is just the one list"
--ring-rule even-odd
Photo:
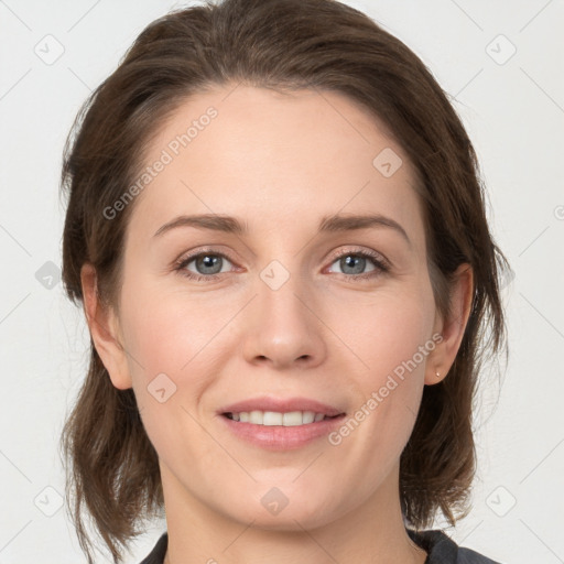
[(131, 229), (154, 232), (183, 213), (239, 216), (259, 231), (369, 210), (423, 227), (404, 151), (338, 93), (231, 85), (192, 96), (151, 139), (144, 166)]

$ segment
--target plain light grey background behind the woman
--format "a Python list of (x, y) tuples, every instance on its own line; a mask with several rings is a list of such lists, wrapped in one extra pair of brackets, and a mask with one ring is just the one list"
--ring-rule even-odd
[[(404, 41), (453, 97), (514, 270), (503, 289), (507, 373), (501, 388), (485, 373), (476, 413), (474, 509), (448, 532), (503, 563), (564, 563), (564, 3), (346, 3)], [(0, 0), (0, 564), (85, 562), (61, 508), (57, 454), (89, 343), (57, 278), (62, 149), (90, 89), (150, 21), (180, 6)], [(164, 528), (140, 538), (128, 562)]]

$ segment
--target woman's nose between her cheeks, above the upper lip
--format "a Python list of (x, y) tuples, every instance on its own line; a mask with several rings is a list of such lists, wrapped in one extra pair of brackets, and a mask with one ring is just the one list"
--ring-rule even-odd
[(326, 326), (316, 312), (315, 300), (303, 284), (290, 279), (273, 290), (258, 284), (249, 304), (242, 350), (248, 362), (271, 368), (305, 369), (318, 366), (327, 354)]

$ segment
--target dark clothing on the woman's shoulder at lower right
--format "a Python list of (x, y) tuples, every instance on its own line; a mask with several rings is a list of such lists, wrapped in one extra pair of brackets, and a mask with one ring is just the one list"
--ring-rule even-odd
[(408, 529), (408, 534), (429, 553), (425, 564), (501, 564), (470, 549), (458, 546), (440, 530), (415, 532)]

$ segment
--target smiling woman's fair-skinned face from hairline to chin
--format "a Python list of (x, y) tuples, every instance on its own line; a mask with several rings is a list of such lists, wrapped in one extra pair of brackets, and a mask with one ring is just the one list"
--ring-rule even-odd
[(441, 329), (404, 151), (343, 95), (231, 86), (187, 100), (145, 156), (110, 373), (165, 502), (311, 529), (393, 499)]

